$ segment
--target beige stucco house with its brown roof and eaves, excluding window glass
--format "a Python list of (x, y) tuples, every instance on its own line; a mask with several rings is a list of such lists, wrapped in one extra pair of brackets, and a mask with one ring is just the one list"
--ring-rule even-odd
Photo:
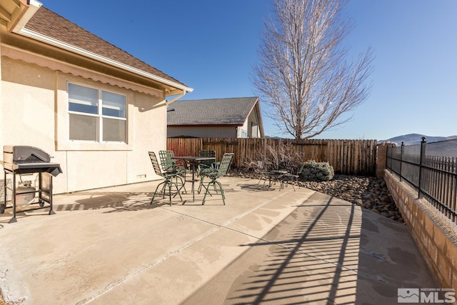
[[(32, 4), (31, 18), (36, 18), (26, 30), (36, 40), (0, 24), (1, 149), (36, 146), (50, 154), (63, 171), (53, 179), (54, 194), (159, 179), (148, 151), (166, 149), (166, 99), (193, 89), (40, 8), (38, 1), (19, 9)], [(0, 3), (5, 14), (9, 7), (17, 6)], [(69, 33), (62, 34), (59, 26)], [(71, 45), (71, 37), (80, 46)], [(126, 141), (70, 140), (69, 83), (126, 96)]]

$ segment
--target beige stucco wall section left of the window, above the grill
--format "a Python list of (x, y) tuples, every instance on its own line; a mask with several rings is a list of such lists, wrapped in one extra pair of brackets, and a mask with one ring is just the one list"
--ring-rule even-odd
[[(5, 144), (41, 144), (54, 150), (54, 75), (39, 66), (1, 58)], [(51, 132), (50, 132), (51, 131)]]

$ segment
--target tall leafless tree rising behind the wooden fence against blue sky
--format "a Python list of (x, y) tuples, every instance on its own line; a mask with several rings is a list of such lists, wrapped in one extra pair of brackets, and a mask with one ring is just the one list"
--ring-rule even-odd
[(308, 139), (351, 119), (369, 94), (370, 48), (354, 63), (343, 46), (352, 29), (343, 16), (347, 0), (273, 0), (264, 22), (260, 61), (253, 85), (271, 111), (268, 116), (295, 139)]

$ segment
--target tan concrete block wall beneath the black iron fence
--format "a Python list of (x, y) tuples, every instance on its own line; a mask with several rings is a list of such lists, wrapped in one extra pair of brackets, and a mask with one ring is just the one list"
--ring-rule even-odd
[(438, 284), (457, 291), (457, 225), (388, 170), (384, 180)]

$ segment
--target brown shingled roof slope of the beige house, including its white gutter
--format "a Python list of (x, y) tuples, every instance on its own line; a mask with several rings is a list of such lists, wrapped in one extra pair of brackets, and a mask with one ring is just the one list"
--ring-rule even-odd
[[(164, 72), (99, 38), (99, 36), (86, 31), (81, 26), (64, 19), (64, 17), (46, 9), (44, 6), (39, 6), (33, 16), (26, 21), (26, 24), (15, 32), (154, 81), (159, 81), (180, 91), (193, 91), (181, 81), (164, 74)], [(176, 94), (176, 92), (173, 94)]]

